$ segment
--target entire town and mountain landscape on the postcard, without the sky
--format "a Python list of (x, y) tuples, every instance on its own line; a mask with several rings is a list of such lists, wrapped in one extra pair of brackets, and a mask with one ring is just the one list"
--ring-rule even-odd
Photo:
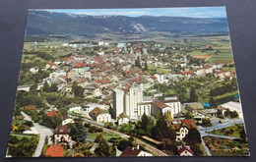
[(29, 11), (6, 156), (249, 156), (226, 18)]

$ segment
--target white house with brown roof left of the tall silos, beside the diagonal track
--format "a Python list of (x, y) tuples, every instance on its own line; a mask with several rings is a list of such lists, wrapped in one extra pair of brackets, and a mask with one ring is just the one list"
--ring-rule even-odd
[(109, 113), (103, 112), (100, 108), (96, 107), (92, 110), (89, 115), (99, 123), (111, 122), (111, 115)]

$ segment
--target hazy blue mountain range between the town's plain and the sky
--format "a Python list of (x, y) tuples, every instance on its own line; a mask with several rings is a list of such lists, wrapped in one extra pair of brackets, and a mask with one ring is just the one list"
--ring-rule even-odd
[(144, 33), (151, 31), (212, 33), (228, 31), (225, 18), (89, 16), (30, 11), (27, 34)]

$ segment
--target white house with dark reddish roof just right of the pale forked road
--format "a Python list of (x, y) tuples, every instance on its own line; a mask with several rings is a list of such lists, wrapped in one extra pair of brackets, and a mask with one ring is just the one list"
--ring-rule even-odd
[(71, 142), (71, 136), (69, 135), (70, 129), (67, 126), (61, 125), (57, 127), (54, 132), (54, 143), (67, 141), (68, 143)]

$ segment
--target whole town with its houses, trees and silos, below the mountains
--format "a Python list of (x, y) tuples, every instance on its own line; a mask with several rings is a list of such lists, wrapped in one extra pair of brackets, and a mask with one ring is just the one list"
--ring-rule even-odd
[(7, 156), (248, 154), (233, 62), (175, 41), (25, 46)]

